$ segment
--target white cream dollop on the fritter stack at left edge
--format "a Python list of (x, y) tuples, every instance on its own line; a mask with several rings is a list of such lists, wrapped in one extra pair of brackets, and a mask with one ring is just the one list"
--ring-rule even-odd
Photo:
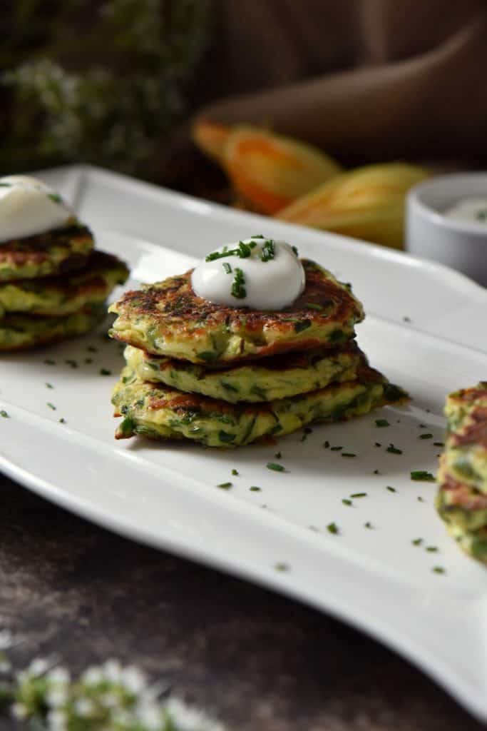
[(0, 243), (64, 226), (73, 212), (53, 189), (29, 175), (0, 178)]

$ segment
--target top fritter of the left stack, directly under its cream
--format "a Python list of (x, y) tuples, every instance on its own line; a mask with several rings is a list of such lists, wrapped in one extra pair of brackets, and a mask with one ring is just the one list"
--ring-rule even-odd
[(0, 281), (56, 276), (85, 266), (93, 249), (88, 227), (69, 226), (0, 243)]

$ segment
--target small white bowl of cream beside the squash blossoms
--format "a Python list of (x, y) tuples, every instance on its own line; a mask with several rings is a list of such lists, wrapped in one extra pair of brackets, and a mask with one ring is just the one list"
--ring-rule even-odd
[(407, 194), (406, 249), (487, 287), (487, 224), (443, 215), (463, 198), (487, 200), (487, 173), (440, 175), (414, 186)]

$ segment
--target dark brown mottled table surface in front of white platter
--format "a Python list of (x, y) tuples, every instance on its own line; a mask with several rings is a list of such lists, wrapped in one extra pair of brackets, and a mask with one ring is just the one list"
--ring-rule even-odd
[(118, 657), (231, 731), (483, 728), (326, 614), (118, 537), (1, 476), (0, 489), (0, 629), (23, 640), (18, 667), (55, 653), (76, 673)]

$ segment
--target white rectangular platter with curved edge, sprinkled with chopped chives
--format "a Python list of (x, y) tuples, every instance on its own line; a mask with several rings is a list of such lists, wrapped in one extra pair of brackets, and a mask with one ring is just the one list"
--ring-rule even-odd
[[(0, 420), (1, 469), (120, 534), (364, 629), (487, 720), (487, 571), (445, 533), (434, 512), (436, 485), (410, 479), (413, 470), (436, 469), (446, 393), (487, 377), (486, 290), (399, 252), (96, 168), (39, 176), (73, 203), (99, 248), (129, 262), (126, 287), (184, 271), (195, 257), (251, 234), (289, 240), (353, 283), (367, 312), (358, 343), (413, 400), (315, 426), (304, 441), (300, 432), (275, 446), (220, 451), (115, 442), (110, 392), (123, 360), (101, 328), (61, 346), (1, 357), (0, 408), (9, 413)], [(389, 426), (377, 427), (380, 418)], [(423, 433), (433, 436), (421, 439)], [(326, 440), (356, 456), (342, 458), (323, 447)], [(389, 444), (401, 453), (386, 451)], [(266, 469), (276, 451), (283, 473)], [(219, 489), (224, 482), (232, 487)], [(256, 486), (260, 491), (250, 490)], [(342, 502), (355, 493), (367, 494)], [(330, 523), (337, 534), (327, 530)], [(421, 545), (413, 543), (418, 538)]]

